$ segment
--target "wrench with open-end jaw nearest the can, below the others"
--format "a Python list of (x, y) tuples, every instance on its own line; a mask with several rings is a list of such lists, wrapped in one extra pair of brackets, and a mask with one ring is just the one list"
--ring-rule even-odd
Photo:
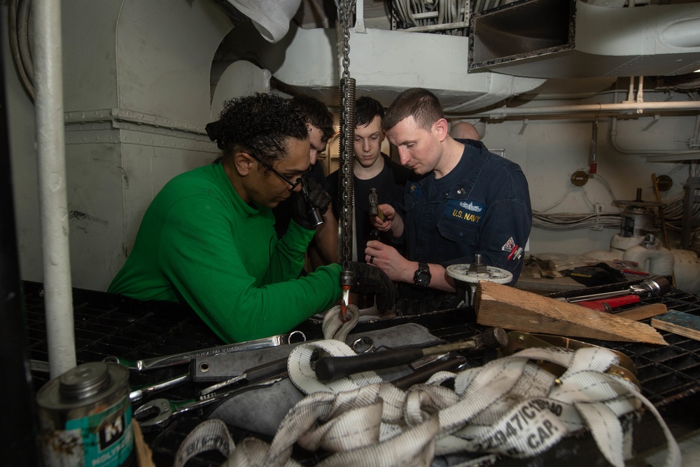
[(175, 401), (165, 398), (149, 400), (148, 402), (144, 403), (144, 405), (137, 408), (137, 410), (134, 410), (134, 419), (139, 422), (141, 428), (151, 428), (153, 426), (163, 427), (166, 426), (170, 419), (177, 414), (189, 412), (190, 410), (195, 410), (203, 407), (204, 405), (225, 400), (235, 396), (238, 393), (248, 391), (249, 389), (271, 386), (272, 384), (281, 381), (285, 377), (287, 377), (287, 372), (283, 372), (275, 377), (266, 379), (265, 381), (261, 381), (256, 384), (248, 384), (248, 386), (233, 389), (232, 391), (212, 393), (207, 398), (202, 398), (200, 400), (189, 399)]

